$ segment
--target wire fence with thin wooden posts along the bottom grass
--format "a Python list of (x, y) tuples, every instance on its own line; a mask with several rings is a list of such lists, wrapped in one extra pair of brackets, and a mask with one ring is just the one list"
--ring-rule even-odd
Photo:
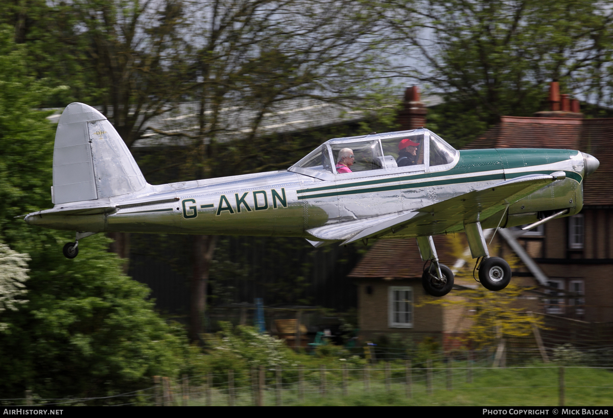
[[(609, 378), (595, 382), (590, 372), (604, 372)], [(587, 372), (587, 374), (586, 374)], [(526, 374), (528, 373), (528, 374)], [(535, 381), (529, 376), (539, 376)], [(517, 377), (519, 376), (519, 378)], [(190, 384), (190, 381), (192, 384)], [(492, 383), (493, 382), (493, 383)], [(77, 405), (156, 405), (156, 406), (281, 406), (318, 405), (322, 400), (381, 396), (407, 400), (436, 399), (448, 393), (487, 391), (489, 393), (543, 392), (557, 397), (557, 405), (579, 396), (576, 389), (603, 393), (609, 401), (613, 392), (613, 368), (542, 365), (493, 367), (489, 358), (442, 363), (427, 359), (424, 367), (411, 360), (379, 361), (365, 367), (343, 363), (337, 367), (252, 367), (227, 370), (202, 376), (183, 376), (172, 381), (154, 376), (151, 387), (119, 395), (97, 398), (37, 399), (26, 393), (22, 399), (0, 400), (3, 405), (37, 405), (47, 407)], [(455, 391), (455, 392), (454, 392)], [(547, 394), (547, 395), (546, 395)], [(503, 401), (504, 402), (504, 401)]]

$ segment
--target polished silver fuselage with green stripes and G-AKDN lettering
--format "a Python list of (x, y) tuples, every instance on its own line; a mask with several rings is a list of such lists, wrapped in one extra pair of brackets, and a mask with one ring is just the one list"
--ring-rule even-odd
[[(566, 172), (555, 181), (512, 204), (506, 213), (482, 219), (484, 227), (534, 222), (539, 212), (582, 208), (582, 180), (588, 154), (571, 150), (468, 150), (448, 169), (436, 172), (372, 170), (332, 180), (289, 170), (147, 185), (129, 196), (105, 199), (106, 209), (73, 211), (83, 202), (55, 205), (31, 213), (26, 222), (79, 232), (160, 234), (272, 235), (334, 240), (347, 222), (370, 224), (397, 213), (443, 202), (471, 191), (531, 173)], [(593, 157), (591, 157), (593, 158)], [(58, 210), (54, 213), (54, 210)], [(64, 211), (64, 212), (62, 212)], [(501, 218), (502, 216), (502, 218)], [(326, 227), (321, 229), (321, 227)], [(440, 229), (416, 225), (390, 237), (417, 237), (463, 230), (462, 223)]]

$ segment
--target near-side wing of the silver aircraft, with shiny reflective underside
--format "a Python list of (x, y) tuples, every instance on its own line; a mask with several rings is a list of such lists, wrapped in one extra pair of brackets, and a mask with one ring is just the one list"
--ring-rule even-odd
[(345, 238), (343, 245), (364, 238), (393, 237), (400, 230), (411, 227), (416, 235), (437, 235), (463, 230), (463, 224), (484, 221), (518, 200), (547, 186), (563, 173), (552, 175), (531, 174), (506, 180), (487, 188), (468, 192), (443, 202), (434, 203), (409, 213), (382, 219), (374, 225)]

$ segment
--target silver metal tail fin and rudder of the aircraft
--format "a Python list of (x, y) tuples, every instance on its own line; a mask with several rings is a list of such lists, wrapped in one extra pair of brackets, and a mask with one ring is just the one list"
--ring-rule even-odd
[(88, 105), (69, 104), (55, 133), (53, 204), (105, 199), (145, 187), (139, 166), (107, 118)]

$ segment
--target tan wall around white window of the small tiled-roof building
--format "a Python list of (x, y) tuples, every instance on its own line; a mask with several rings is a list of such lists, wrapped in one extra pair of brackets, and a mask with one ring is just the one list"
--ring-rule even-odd
[[(368, 286), (371, 288), (370, 294), (367, 293)], [(390, 286), (413, 287), (413, 327), (389, 326), (388, 289)], [(430, 335), (440, 340), (443, 332), (443, 307), (432, 304), (419, 306), (427, 300), (432, 300), (432, 297), (425, 294), (421, 279), (367, 279), (360, 281), (357, 287), (360, 340), (362, 342), (375, 340), (377, 336), (390, 333), (414, 335), (418, 340)]]

